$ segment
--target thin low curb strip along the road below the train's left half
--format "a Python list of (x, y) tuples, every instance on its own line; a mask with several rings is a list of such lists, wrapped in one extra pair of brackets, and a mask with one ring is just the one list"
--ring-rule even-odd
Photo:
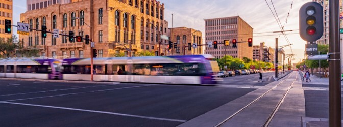
[(91, 82), (91, 81), (74, 81), (74, 80), (18, 79), (18, 78), (0, 78), (0, 80), (39, 81), (39, 82), (56, 82), (56, 83), (120, 84), (120, 82), (99, 82), (99, 81)]

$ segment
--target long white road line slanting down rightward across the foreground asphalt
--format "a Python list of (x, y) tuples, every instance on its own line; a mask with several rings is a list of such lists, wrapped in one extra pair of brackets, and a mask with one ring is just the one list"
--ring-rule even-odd
[(103, 114), (111, 114), (111, 115), (119, 115), (119, 116), (128, 116), (128, 117), (136, 117), (136, 118), (145, 118), (145, 119), (154, 119), (154, 120), (163, 120), (163, 121), (186, 122), (186, 120), (179, 120), (179, 119), (157, 118), (157, 117), (148, 117), (148, 116), (141, 116), (141, 115), (130, 115), (130, 114), (115, 113), (115, 112), (105, 112), (105, 111), (75, 109), (75, 108), (67, 108), (67, 107), (56, 107), (56, 106), (46, 106), (46, 105), (34, 105), (34, 104), (15, 103), (15, 102), (0, 102), (0, 103), (16, 104), (16, 105), (26, 105), (26, 106), (36, 106), (36, 107), (45, 107), (45, 108), (55, 108), (55, 109), (65, 109), (65, 110), (74, 110), (74, 111), (84, 111), (84, 112), (93, 112), (93, 113), (103, 113)]

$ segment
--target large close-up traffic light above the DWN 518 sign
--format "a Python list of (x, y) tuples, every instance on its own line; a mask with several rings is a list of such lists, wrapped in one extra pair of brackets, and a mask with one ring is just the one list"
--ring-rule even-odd
[(307, 42), (323, 36), (323, 7), (317, 2), (308, 2), (299, 10), (299, 34)]

